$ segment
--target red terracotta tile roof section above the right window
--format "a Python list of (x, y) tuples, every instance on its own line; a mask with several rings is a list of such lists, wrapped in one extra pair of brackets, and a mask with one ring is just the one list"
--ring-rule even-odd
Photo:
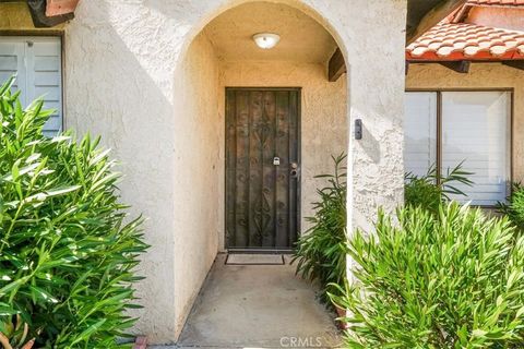
[[(524, 0), (475, 0), (522, 1)], [(524, 59), (524, 32), (440, 23), (406, 48), (412, 61)]]

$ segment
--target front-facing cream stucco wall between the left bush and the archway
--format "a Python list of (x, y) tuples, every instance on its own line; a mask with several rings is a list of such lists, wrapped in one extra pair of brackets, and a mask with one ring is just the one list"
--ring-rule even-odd
[(82, 1), (64, 40), (67, 127), (103, 136), (121, 161), (122, 200), (148, 218), (145, 238), (152, 248), (140, 266), (146, 279), (138, 287), (144, 309), (132, 315), (141, 317), (136, 330), (153, 341), (176, 340), (180, 330), (176, 232), (187, 218), (174, 206), (175, 178), (190, 172), (180, 171), (188, 154), (176, 147), (180, 130), (172, 109), (178, 33), (184, 28), (178, 5), (166, 3), (160, 12), (140, 2)]

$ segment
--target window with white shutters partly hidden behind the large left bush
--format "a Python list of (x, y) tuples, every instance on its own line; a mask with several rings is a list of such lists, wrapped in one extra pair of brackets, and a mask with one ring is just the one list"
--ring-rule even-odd
[(24, 107), (43, 97), (45, 108), (57, 110), (44, 127), (45, 134), (55, 135), (62, 129), (60, 38), (0, 36), (0, 82), (13, 74)]

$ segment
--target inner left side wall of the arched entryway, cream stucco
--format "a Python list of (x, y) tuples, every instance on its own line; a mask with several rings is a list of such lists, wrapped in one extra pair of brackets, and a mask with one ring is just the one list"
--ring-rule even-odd
[[(175, 309), (181, 326), (218, 250), (224, 212), (224, 135), (218, 113), (218, 62), (205, 35), (191, 44), (178, 71), (175, 101)], [(222, 99), (221, 99), (222, 100)], [(177, 200), (180, 197), (182, 200)], [(179, 330), (178, 328), (177, 330)]]

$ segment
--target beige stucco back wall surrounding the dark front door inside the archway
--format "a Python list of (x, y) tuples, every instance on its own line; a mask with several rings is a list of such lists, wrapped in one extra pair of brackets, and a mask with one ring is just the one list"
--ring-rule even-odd
[[(314, 63), (240, 61), (224, 62), (222, 67), (222, 94), (225, 87), (302, 87), (301, 226), (302, 231), (306, 230), (309, 225), (305, 218), (312, 215), (317, 188), (324, 185), (324, 181), (313, 177), (332, 173), (331, 155), (347, 153), (346, 76), (330, 83), (325, 65)], [(225, 110), (224, 104), (219, 110)], [(224, 142), (221, 142), (221, 154), (224, 154)]]

